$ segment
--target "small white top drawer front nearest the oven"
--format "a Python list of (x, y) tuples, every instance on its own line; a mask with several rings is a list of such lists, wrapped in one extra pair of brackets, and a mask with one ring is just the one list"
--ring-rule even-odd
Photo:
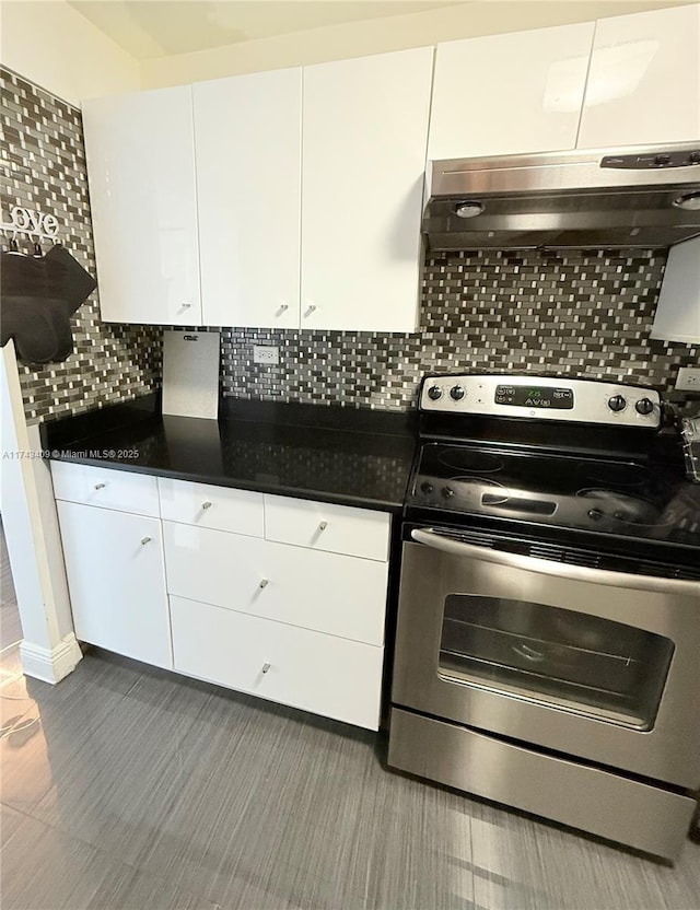
[(385, 512), (265, 497), (265, 536), (268, 540), (386, 560), (389, 526), (390, 516)]

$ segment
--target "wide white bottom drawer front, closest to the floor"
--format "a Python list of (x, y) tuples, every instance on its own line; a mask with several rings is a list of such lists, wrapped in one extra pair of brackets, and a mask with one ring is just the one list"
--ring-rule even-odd
[(176, 670), (377, 730), (384, 649), (171, 597)]

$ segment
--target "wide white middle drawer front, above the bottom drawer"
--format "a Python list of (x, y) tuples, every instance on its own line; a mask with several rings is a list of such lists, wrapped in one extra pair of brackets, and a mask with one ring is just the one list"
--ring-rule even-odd
[(171, 594), (381, 645), (388, 563), (164, 522)]

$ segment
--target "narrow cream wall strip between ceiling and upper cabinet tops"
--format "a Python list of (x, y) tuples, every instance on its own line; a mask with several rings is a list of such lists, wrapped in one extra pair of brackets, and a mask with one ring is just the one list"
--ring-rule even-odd
[(362, 57), (438, 42), (587, 22), (693, 0), (475, 0), (423, 13), (350, 22), (144, 60), (144, 89)]

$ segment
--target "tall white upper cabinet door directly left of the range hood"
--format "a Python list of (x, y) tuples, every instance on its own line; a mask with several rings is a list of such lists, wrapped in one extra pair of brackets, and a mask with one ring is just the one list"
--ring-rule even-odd
[(304, 69), (302, 329), (416, 329), (432, 59)]

